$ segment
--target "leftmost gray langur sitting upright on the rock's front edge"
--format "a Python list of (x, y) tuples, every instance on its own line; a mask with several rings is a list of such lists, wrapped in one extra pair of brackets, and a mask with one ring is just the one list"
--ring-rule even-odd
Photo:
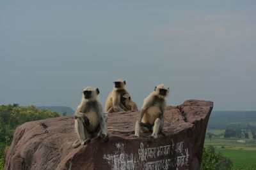
[(97, 135), (105, 142), (108, 141), (107, 115), (103, 115), (102, 104), (98, 99), (99, 89), (86, 87), (83, 90), (82, 101), (74, 113), (75, 130), (79, 139), (72, 144), (73, 148), (90, 143)]

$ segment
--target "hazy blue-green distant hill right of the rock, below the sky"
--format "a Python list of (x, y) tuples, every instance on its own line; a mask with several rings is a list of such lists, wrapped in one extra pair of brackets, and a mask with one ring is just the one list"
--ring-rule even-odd
[(212, 111), (209, 129), (256, 129), (256, 111)]

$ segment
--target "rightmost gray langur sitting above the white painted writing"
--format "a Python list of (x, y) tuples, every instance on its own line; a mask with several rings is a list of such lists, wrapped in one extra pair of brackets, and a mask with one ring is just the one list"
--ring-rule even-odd
[(164, 110), (166, 106), (165, 97), (168, 96), (170, 89), (163, 84), (155, 87), (154, 92), (145, 99), (140, 111), (140, 118), (135, 124), (134, 137), (139, 137), (140, 132), (152, 132), (149, 141), (154, 141), (157, 134), (163, 133)]

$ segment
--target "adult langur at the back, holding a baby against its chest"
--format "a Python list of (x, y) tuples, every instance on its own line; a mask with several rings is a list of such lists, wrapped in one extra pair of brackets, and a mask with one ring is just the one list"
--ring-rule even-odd
[(127, 90), (125, 89), (126, 83), (122, 79), (118, 79), (114, 81), (114, 83), (114, 89), (109, 93), (108, 98), (106, 100), (106, 113), (127, 111), (124, 104), (121, 103), (121, 97), (124, 96), (124, 94), (128, 94), (130, 96), (129, 92), (127, 92)]

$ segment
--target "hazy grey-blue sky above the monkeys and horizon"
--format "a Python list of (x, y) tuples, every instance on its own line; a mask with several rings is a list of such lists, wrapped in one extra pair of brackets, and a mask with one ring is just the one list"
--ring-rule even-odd
[(256, 1), (0, 1), (0, 104), (70, 106), (84, 87), (105, 104), (122, 78), (140, 109), (256, 110)]

